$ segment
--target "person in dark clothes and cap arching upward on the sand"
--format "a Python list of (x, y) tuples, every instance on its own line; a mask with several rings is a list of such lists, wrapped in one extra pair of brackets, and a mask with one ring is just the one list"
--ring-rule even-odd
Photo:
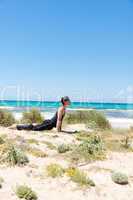
[(61, 98), (61, 103), (62, 106), (58, 108), (58, 111), (52, 119), (45, 120), (42, 124), (38, 125), (17, 125), (17, 130), (44, 131), (51, 130), (56, 127), (58, 132), (65, 132), (62, 130), (62, 122), (66, 114), (66, 107), (71, 104), (71, 101), (68, 96), (65, 96)]

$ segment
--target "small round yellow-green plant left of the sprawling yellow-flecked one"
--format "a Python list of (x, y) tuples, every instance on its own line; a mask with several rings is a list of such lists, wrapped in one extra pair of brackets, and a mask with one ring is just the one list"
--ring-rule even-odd
[(47, 175), (56, 178), (60, 177), (64, 173), (64, 169), (59, 164), (50, 164), (46, 168)]

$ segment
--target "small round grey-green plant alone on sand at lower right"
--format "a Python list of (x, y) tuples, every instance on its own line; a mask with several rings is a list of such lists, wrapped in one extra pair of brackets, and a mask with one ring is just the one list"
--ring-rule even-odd
[(112, 180), (120, 185), (127, 185), (128, 184), (128, 176), (121, 172), (114, 172), (112, 173)]

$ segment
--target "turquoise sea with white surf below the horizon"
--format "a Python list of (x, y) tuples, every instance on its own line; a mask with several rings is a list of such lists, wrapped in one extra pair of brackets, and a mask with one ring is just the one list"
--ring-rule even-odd
[[(38, 108), (45, 116), (50, 118), (60, 106), (57, 101), (16, 101), (0, 100), (0, 108), (12, 111), (16, 118), (20, 118), (23, 111)], [(96, 109), (103, 112), (108, 118), (133, 119), (133, 103), (105, 103), (105, 102), (72, 102), (68, 111)]]

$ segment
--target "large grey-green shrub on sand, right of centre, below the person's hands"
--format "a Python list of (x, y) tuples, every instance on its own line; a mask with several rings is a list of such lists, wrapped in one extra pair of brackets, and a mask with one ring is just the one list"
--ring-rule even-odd
[(77, 145), (72, 153), (73, 161), (102, 160), (106, 157), (104, 143), (100, 136), (91, 135), (88, 140), (84, 140)]

